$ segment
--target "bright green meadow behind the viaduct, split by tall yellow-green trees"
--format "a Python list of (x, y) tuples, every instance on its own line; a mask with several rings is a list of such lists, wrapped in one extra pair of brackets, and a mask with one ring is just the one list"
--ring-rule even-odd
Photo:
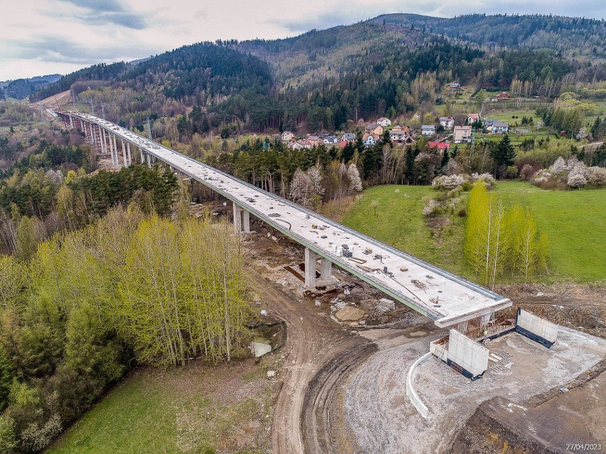
[[(398, 189), (399, 193), (395, 190)], [(549, 238), (549, 272), (536, 281), (606, 281), (606, 189), (547, 191), (519, 181), (498, 183), (495, 193), (506, 205), (519, 202), (531, 207), (540, 232)], [(378, 186), (365, 190), (342, 218), (405, 252), (474, 279), (464, 261), (462, 247), (467, 195), (452, 213), (427, 222), (422, 215), (424, 198), (437, 196), (427, 186)], [(377, 216), (370, 206), (378, 201)]]

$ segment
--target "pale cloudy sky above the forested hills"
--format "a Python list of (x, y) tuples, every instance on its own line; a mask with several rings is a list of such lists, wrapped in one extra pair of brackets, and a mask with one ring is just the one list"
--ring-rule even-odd
[[(7, 0), (0, 80), (129, 61), (218, 38), (284, 38), (381, 13), (553, 13), (606, 18), (605, 0)], [(458, 4), (457, 4), (458, 3)], [(455, 7), (455, 5), (457, 5)]]

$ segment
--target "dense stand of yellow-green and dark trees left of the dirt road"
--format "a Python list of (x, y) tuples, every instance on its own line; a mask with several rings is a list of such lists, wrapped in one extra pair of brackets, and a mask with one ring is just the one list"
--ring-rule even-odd
[(134, 364), (238, 356), (246, 295), (231, 225), (135, 204), (0, 256), (0, 451), (42, 450)]

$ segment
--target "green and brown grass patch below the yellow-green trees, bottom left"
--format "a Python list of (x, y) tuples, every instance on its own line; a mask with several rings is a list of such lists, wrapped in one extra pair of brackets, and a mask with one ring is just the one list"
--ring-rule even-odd
[(139, 369), (46, 454), (268, 452), (272, 384), (254, 360)]

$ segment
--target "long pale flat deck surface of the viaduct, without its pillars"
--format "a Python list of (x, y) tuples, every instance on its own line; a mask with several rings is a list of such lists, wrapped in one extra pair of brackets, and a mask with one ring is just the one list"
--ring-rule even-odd
[[(110, 129), (113, 134), (215, 190), (299, 244), (429, 316), (440, 327), (511, 306), (509, 299), (487, 288), (306, 210), (289, 200), (260, 190), (110, 121), (90, 114), (71, 115)], [(343, 244), (347, 244), (353, 252), (353, 260), (341, 256)], [(372, 249), (372, 253), (364, 254), (366, 248)], [(376, 255), (382, 256), (382, 259), (375, 259)], [(361, 261), (364, 262), (360, 263)], [(383, 267), (387, 267), (393, 276), (383, 272)]]

